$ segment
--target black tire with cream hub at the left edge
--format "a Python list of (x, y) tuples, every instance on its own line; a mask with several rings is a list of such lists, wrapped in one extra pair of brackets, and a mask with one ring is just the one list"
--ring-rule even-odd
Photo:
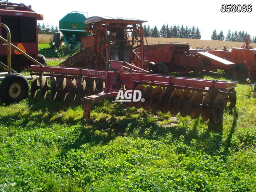
[(8, 74), (0, 84), (0, 98), (6, 104), (18, 103), (27, 98), (28, 93), (28, 80), (22, 74)]

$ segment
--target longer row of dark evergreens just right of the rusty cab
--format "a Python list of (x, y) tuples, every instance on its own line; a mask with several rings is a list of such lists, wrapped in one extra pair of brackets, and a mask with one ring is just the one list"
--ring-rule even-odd
[(168, 26), (168, 24), (163, 24), (162, 28), (158, 30), (157, 26), (150, 28), (150, 26), (144, 25), (143, 27), (146, 37), (163, 37), (163, 38), (187, 38), (187, 39), (200, 39), (201, 32), (198, 27), (192, 26)]

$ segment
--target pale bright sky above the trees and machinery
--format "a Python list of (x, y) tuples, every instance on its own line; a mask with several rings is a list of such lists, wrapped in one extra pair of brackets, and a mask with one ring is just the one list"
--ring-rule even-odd
[[(200, 29), (203, 40), (210, 40), (214, 29), (224, 35), (244, 31), (256, 36), (255, 0), (9, 0), (12, 3), (32, 5), (32, 10), (44, 15), (45, 24), (59, 26), (59, 20), (71, 11), (80, 11), (88, 16), (113, 16), (146, 20), (146, 26), (161, 29), (163, 24), (195, 26)], [(252, 12), (220, 11), (222, 4), (251, 4)], [(40, 22), (40, 23), (42, 23)]]

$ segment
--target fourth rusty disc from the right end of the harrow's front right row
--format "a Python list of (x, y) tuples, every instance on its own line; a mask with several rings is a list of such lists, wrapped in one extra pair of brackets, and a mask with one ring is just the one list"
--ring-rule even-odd
[(190, 90), (185, 90), (182, 93), (182, 96), (180, 98), (180, 115), (182, 117), (188, 116), (190, 113), (190, 100), (191, 100), (192, 94)]

